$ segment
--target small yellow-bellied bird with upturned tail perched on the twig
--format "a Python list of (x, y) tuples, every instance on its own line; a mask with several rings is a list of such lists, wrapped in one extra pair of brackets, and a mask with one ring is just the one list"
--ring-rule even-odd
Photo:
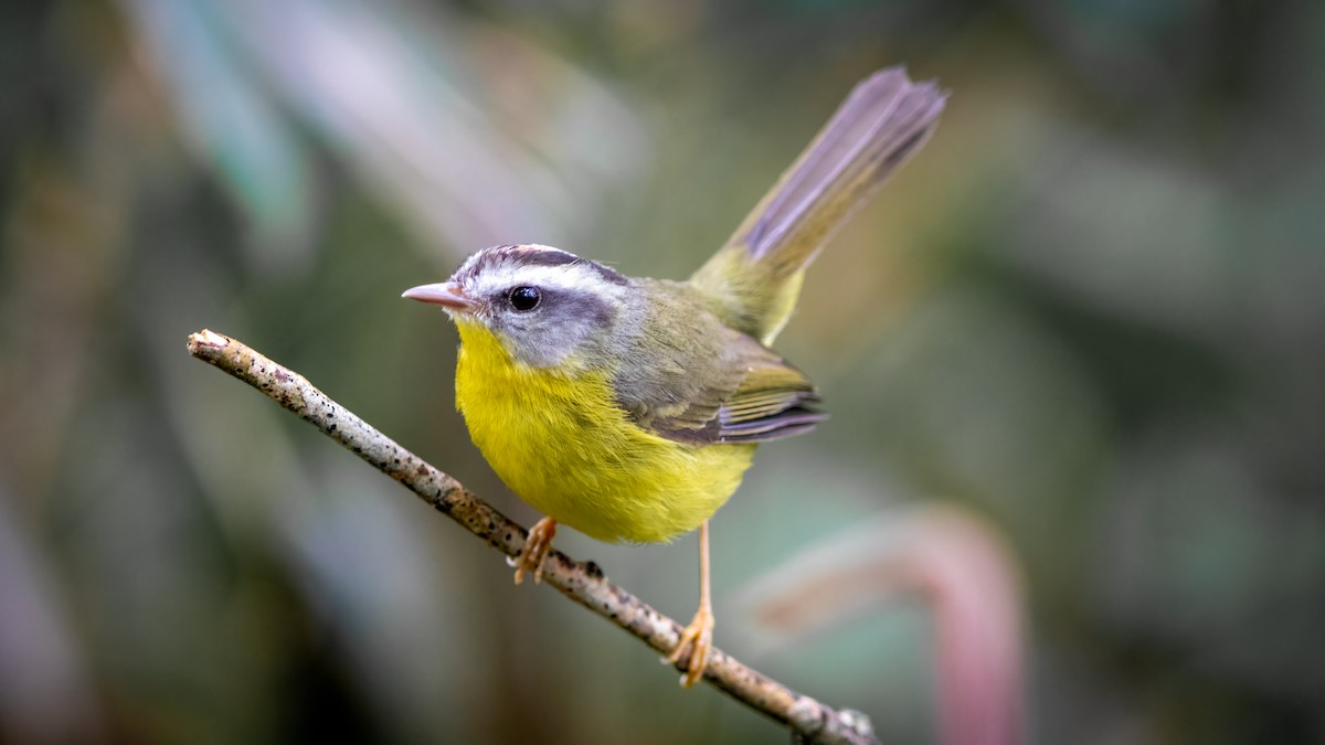
[(669, 661), (704, 675), (713, 639), (709, 518), (758, 443), (824, 419), (768, 349), (823, 244), (934, 130), (946, 95), (901, 69), (856, 86), (685, 282), (627, 277), (546, 245), (498, 245), (405, 290), (456, 322), (456, 407), (498, 476), (546, 514), (515, 561), (537, 582), (558, 524), (608, 542), (700, 529), (700, 608)]

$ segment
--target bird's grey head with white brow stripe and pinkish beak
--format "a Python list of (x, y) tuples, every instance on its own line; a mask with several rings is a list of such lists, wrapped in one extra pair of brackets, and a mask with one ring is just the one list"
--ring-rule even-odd
[(461, 335), (486, 330), (518, 362), (553, 367), (606, 351), (637, 284), (615, 269), (546, 245), (497, 245), (449, 281), (401, 297), (440, 305)]

